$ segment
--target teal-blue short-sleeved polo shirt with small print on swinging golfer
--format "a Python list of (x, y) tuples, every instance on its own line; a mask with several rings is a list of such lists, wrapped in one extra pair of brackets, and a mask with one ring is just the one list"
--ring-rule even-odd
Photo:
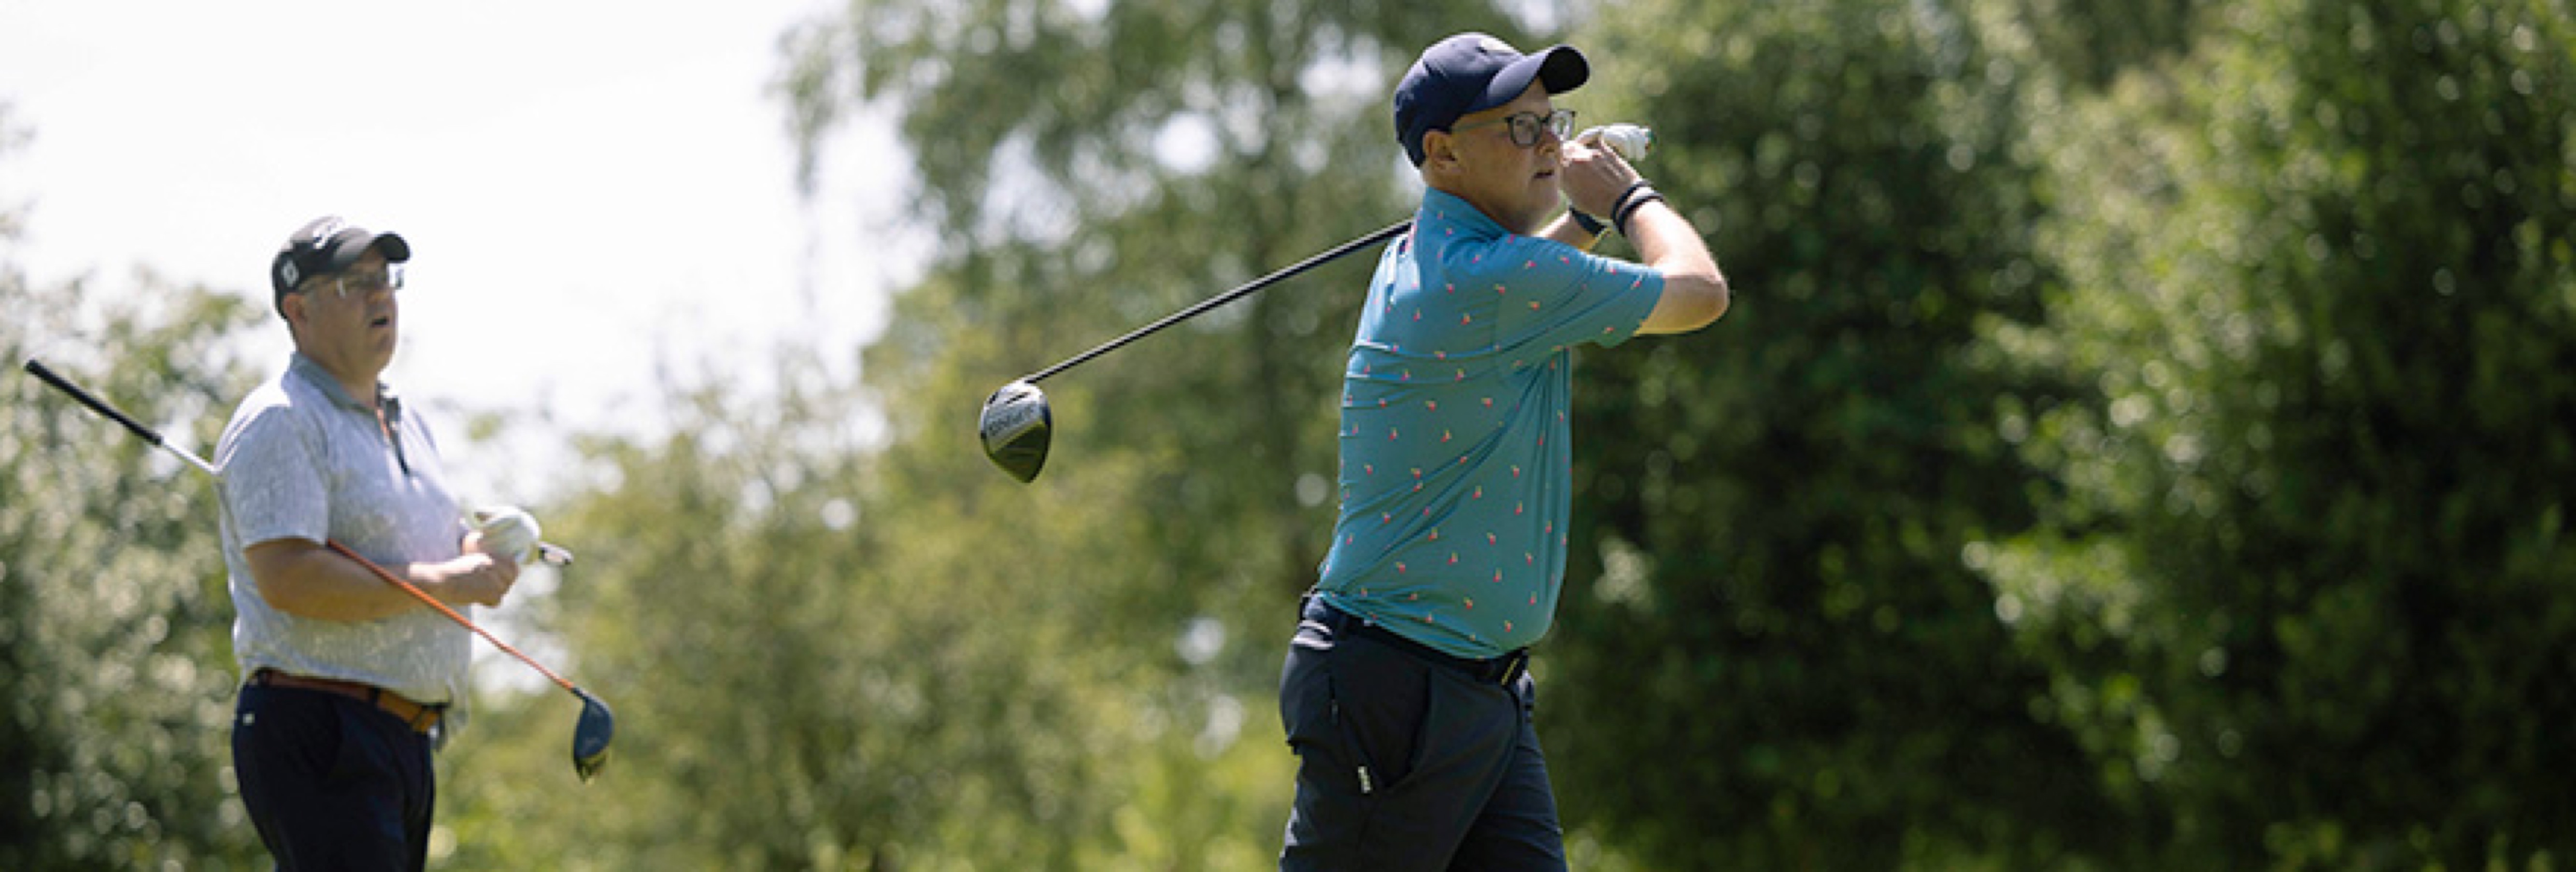
[(1571, 347), (1625, 342), (1662, 296), (1654, 268), (1425, 193), (1342, 373), (1324, 602), (1466, 659), (1546, 635), (1566, 579)]

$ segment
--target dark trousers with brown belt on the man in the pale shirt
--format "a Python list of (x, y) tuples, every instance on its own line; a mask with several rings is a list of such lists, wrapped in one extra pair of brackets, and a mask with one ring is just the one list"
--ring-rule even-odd
[(232, 713), (242, 808), (278, 869), (422, 869), (430, 736), (361, 700), (242, 687)]

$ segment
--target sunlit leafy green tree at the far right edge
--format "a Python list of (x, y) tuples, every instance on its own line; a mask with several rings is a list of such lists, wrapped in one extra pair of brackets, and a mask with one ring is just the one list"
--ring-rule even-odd
[(2043, 522), (1968, 563), (2174, 864), (2545, 867), (2576, 805), (2576, 21), (2233, 5), (2035, 118)]

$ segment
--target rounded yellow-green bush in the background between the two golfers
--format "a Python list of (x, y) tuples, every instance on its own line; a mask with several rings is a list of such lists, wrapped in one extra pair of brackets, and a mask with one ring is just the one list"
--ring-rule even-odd
[[(1136, 561), (1115, 550), (1133, 517), (1095, 509), (1133, 471), (1064, 466), (1041, 491), (971, 437), (871, 448), (858, 391), (778, 368), (775, 406), (690, 391), (675, 437), (585, 445), (592, 496), (549, 517), (582, 563), (531, 617), (577, 640), (618, 756), (574, 787), (569, 702), (510, 705), (453, 764), (453, 862), (1257, 867), (1285, 759), (1236, 741), (1244, 705), (1175, 664), (1177, 625), (1121, 620), (1079, 571)], [(979, 399), (922, 391), (953, 401), (886, 404), (896, 432)]]

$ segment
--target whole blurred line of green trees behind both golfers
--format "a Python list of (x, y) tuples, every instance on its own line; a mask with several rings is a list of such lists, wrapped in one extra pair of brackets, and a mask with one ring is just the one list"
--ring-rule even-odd
[[(618, 759), (574, 785), (572, 707), (489, 682), (440, 862), (1267, 867), (1365, 262), (1048, 381), (1030, 486), (969, 430), (1406, 216), (1386, 90), (1468, 28), (1584, 46), (1561, 103), (1656, 129), (1736, 283), (1582, 355), (1538, 661), (1582, 867), (2576, 849), (2566, 3), (866, 0), (783, 39), (781, 103), (809, 154), (896, 118), (909, 224), (848, 244), (930, 268), (858, 381), (788, 345), (775, 396), (703, 373), (670, 437), (574, 435), (538, 514), (582, 563), (515, 617)], [(201, 363), (245, 324), (204, 293), (0, 293), (13, 358), (98, 337), (67, 368), (198, 442), (258, 370)], [(255, 862), (211, 494), (13, 383), (0, 864)]]

